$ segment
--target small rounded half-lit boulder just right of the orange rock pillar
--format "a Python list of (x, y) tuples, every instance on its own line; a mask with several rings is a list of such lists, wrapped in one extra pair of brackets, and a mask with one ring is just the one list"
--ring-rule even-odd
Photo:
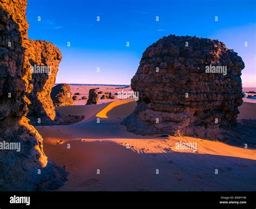
[(51, 90), (51, 99), (54, 106), (74, 105), (70, 86), (67, 83), (59, 83)]

